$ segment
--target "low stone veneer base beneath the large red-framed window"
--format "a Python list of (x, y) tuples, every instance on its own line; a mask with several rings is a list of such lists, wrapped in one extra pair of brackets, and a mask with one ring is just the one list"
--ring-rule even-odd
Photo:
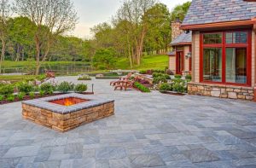
[(189, 95), (254, 101), (253, 87), (230, 86), (222, 84), (201, 84), (191, 82), (188, 84), (188, 92)]

